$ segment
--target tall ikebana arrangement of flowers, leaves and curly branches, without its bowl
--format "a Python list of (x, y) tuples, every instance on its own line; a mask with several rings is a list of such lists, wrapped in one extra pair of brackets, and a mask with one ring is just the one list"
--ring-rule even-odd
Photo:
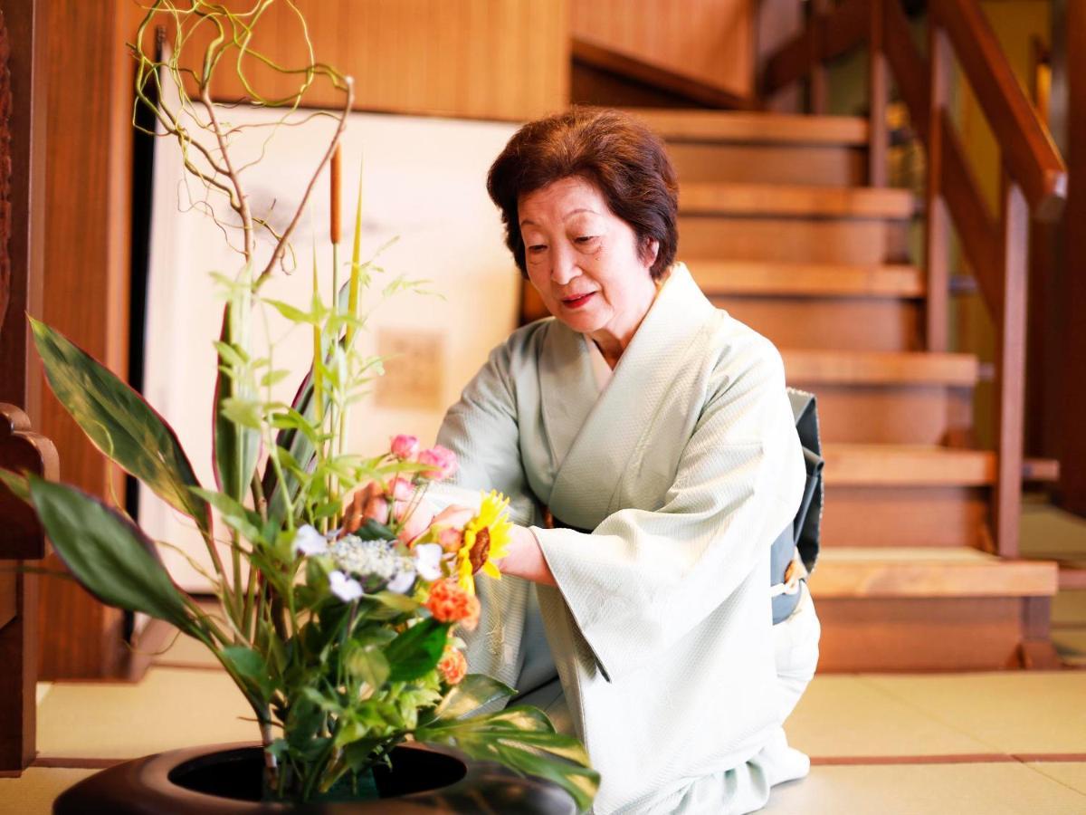
[[(426, 492), (454, 472), (452, 453), (420, 449), (409, 436), (395, 437), (376, 455), (358, 454), (350, 443), (351, 409), (381, 365), (356, 342), (366, 323), (364, 293), (376, 273), (361, 259), (361, 191), (353, 252), (340, 283), (338, 148), (352, 82), (315, 61), (287, 71), (253, 50), (254, 26), (273, 2), (258, 0), (237, 13), (201, 0), (157, 0), (132, 46), (137, 105), (153, 111), (160, 135), (180, 143), (191, 175), (228, 205), (232, 215), (220, 226), (239, 243), (239, 271), (217, 276), (225, 308), (209, 412), (215, 484), (198, 480), (174, 430), (140, 394), (31, 319), (49, 384), (83, 430), (199, 530), (206, 559), (193, 565), (220, 607), (210, 614), (173, 584), (156, 553), (167, 544), (151, 540), (123, 509), (33, 475), (0, 477), (35, 509), (86, 589), (111, 605), (166, 620), (212, 650), (255, 715), (266, 794), (307, 801), (333, 787), (357, 791), (371, 783), (369, 770), (394, 747), (415, 740), (545, 777), (586, 808), (598, 777), (580, 743), (555, 732), (541, 711), (472, 715), (514, 692), (469, 674), (457, 636), (478, 623), (477, 573), (500, 577), (495, 561), (508, 536), (507, 502), (490, 493), (477, 512), (453, 507), (434, 515)], [(173, 43), (162, 58), (143, 46), (160, 23)], [(199, 59), (186, 54), (194, 34), (210, 39)], [(343, 93), (339, 113), (313, 114), (330, 118), (333, 133), (314, 151), (319, 160), (312, 179), (278, 233), (251, 212), (244, 170), (231, 151), (240, 128), (226, 121), (228, 108), (212, 101), (214, 71), (231, 61), (252, 103), (286, 109), (280, 124), (292, 124), (287, 116), (318, 79)], [(298, 77), (298, 91), (281, 99), (257, 95), (243, 73), (254, 62)], [(181, 100), (176, 110), (149, 93), (166, 84)], [(293, 256), (291, 234), (329, 165), (330, 268), (321, 275), (315, 248), (310, 302), (269, 299), (263, 286)], [(312, 367), (301, 372), (289, 403), (273, 389), (295, 372), (277, 368), (275, 343), (257, 351), (253, 337), (256, 317), (268, 309), (293, 324), (292, 341), (302, 336), (312, 342)]]

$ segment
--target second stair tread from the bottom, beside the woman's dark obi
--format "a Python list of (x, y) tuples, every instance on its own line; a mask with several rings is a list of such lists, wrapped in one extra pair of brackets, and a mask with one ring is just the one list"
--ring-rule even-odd
[(996, 454), (938, 444), (825, 444), (828, 487), (985, 487)]

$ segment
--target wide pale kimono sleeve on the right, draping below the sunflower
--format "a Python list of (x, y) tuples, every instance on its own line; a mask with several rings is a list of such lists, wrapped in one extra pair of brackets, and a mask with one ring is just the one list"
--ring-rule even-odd
[(799, 506), (803, 453), (780, 354), (765, 341), (745, 356), (714, 371), (662, 506), (621, 510), (591, 535), (532, 529), (605, 676), (702, 623), (766, 563)]

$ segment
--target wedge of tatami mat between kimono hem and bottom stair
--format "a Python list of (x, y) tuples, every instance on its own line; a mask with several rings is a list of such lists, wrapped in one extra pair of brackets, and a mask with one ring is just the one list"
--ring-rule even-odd
[(811, 756), (945, 755), (992, 752), (970, 734), (917, 711), (863, 676), (817, 676), (784, 725)]

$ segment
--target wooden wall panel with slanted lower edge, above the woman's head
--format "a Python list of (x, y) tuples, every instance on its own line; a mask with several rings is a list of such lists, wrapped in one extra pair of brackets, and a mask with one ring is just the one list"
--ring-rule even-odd
[(754, 88), (755, 0), (572, 0), (572, 34), (738, 96)]

